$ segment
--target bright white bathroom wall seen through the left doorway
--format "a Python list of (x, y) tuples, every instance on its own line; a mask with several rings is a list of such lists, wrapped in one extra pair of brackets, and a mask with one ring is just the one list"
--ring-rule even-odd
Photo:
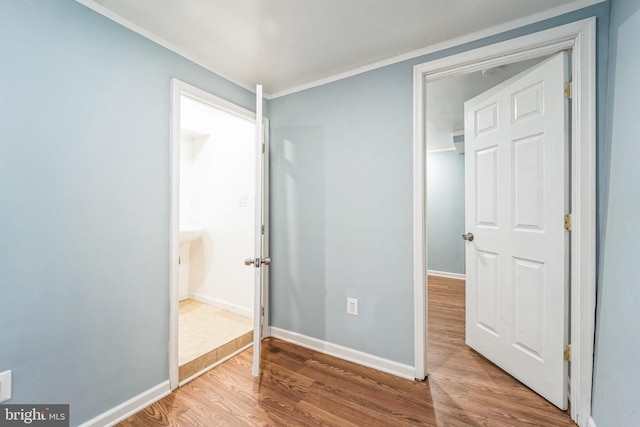
[(189, 296), (253, 313), (254, 124), (182, 98), (180, 222), (204, 227), (191, 243)]

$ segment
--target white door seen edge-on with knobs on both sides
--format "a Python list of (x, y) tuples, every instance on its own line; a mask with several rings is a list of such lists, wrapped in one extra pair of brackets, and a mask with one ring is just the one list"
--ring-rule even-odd
[(255, 270), (254, 274), (254, 307), (253, 307), (253, 366), (251, 374), (256, 377), (260, 375), (260, 353), (262, 350), (262, 337), (264, 321), (264, 266), (271, 263), (271, 259), (265, 257), (264, 248), (267, 246), (265, 242), (265, 220), (266, 215), (264, 206), (265, 195), (268, 189), (265, 188), (265, 171), (266, 165), (266, 144), (264, 140), (264, 126), (262, 120), (262, 86), (256, 87), (256, 198), (255, 198), (255, 247), (252, 258), (245, 260), (245, 264), (252, 266)]

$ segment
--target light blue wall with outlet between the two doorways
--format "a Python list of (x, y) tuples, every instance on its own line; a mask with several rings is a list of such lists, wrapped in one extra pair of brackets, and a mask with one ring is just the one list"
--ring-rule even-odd
[(413, 66), (596, 16), (602, 101), (608, 14), (600, 3), (271, 100), (271, 324), (413, 365)]

